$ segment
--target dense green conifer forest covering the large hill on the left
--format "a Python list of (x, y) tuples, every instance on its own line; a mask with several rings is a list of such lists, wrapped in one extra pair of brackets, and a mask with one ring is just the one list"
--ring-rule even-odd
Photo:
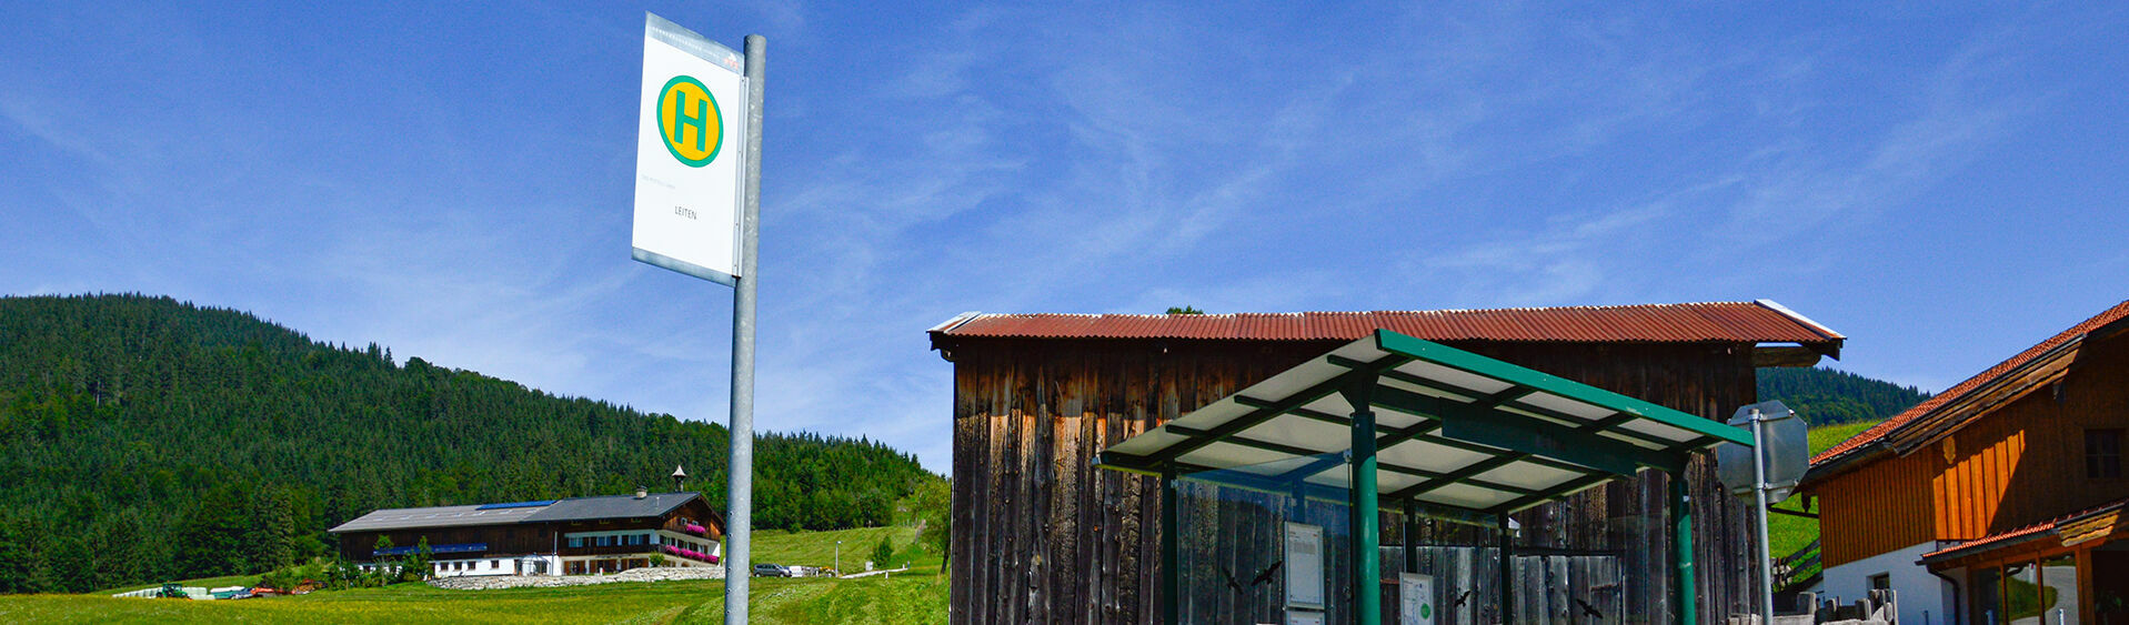
[[(392, 506), (613, 495), (686, 463), (722, 508), (726, 429), (313, 342), (170, 298), (0, 298), (0, 591), (89, 591), (330, 555)], [(926, 480), (869, 440), (762, 434), (756, 527), (886, 525)]]

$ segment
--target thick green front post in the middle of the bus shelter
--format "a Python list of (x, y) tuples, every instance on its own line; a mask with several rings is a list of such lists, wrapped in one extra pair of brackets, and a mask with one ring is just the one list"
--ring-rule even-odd
[(1352, 534), (1348, 536), (1352, 570), (1348, 578), (1352, 580), (1352, 623), (1358, 625), (1382, 623), (1382, 512), (1375, 489), (1375, 412), (1369, 410), (1373, 391), (1373, 374), (1354, 376), (1341, 391), (1352, 404), (1352, 461), (1348, 463), (1352, 468)]

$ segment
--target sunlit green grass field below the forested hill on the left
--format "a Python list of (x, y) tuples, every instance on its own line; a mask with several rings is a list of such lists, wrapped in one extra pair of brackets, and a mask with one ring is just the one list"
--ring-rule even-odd
[[(879, 538), (896, 551), (911, 527), (845, 531), (762, 531), (754, 561), (860, 570)], [(196, 580), (187, 585), (245, 578)], [(128, 591), (128, 589), (113, 589)], [(947, 582), (937, 555), (918, 555), (907, 574), (839, 578), (756, 578), (752, 623), (945, 623)], [(439, 591), (428, 585), (328, 591), (243, 602), (117, 599), (96, 595), (0, 597), (0, 623), (722, 623), (724, 582), (622, 582), (566, 589)]]

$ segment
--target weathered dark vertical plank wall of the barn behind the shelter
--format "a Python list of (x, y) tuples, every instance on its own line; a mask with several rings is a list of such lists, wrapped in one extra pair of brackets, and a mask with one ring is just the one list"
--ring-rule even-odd
[[(954, 338), (954, 623), (1158, 623), (1158, 480), (1094, 453), (1341, 342)], [(1756, 400), (1746, 344), (1463, 342), (1458, 349), (1701, 417)], [(1701, 621), (1748, 610), (1746, 506), (1688, 470)], [(1667, 621), (1665, 476), (1518, 514), (1522, 544), (1629, 553), (1629, 612)], [(1384, 523), (1399, 527), (1399, 523)]]

